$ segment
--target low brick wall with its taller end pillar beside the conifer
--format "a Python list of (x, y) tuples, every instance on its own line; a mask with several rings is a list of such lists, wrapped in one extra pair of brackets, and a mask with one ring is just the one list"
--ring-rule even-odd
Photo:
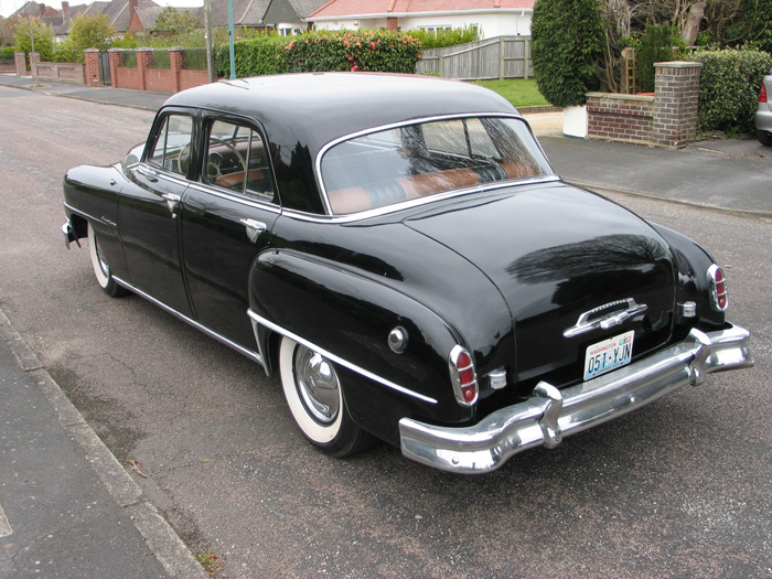
[(653, 96), (587, 94), (588, 138), (676, 148), (695, 140), (701, 63), (654, 66)]

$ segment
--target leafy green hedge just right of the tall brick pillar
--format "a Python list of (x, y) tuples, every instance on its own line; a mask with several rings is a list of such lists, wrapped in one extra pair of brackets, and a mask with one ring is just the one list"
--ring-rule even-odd
[(759, 88), (772, 67), (772, 55), (751, 49), (696, 52), (703, 63), (697, 130), (752, 132)]

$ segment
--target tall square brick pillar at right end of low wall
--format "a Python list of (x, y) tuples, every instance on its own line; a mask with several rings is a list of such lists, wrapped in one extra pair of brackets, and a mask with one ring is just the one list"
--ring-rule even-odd
[(652, 141), (685, 147), (697, 138), (699, 76), (703, 63), (655, 63)]

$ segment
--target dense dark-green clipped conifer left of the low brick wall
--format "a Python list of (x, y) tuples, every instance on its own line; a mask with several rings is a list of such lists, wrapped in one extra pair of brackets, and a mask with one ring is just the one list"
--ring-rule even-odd
[(581, 105), (600, 87), (605, 32), (599, 0), (536, 0), (530, 23), (534, 78), (553, 105)]

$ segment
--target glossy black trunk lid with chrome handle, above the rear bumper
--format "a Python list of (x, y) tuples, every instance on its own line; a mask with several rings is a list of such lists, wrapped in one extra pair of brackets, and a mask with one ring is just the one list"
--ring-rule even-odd
[(565, 183), (521, 185), (436, 206), (405, 224), (498, 289), (514, 322), (510, 372), (519, 385), (582, 380), (588, 347), (630, 331), (633, 358), (671, 337), (675, 281), (666, 242), (596, 194)]

